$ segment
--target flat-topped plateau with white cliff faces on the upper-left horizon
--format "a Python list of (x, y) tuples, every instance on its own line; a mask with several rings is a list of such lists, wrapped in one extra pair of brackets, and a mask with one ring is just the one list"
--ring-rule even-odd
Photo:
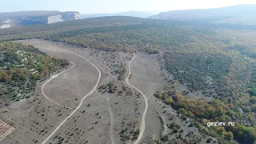
[(79, 12), (59, 11), (23, 11), (0, 13), (0, 29), (13, 26), (31, 26), (38, 24), (51, 24), (81, 19)]

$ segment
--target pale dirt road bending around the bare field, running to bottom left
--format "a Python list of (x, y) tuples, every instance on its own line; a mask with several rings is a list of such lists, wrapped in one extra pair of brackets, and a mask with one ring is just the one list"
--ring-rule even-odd
[[(72, 54), (76, 54), (76, 53), (74, 53), (73, 51), (70, 51), (70, 50), (66, 50), (66, 51), (68, 51), (68, 52), (70, 52), (70, 53), (72, 53)], [(87, 62), (89, 62), (92, 66), (94, 66), (97, 70), (98, 70), (98, 81), (97, 81), (97, 83), (96, 83), (96, 85), (94, 86), (94, 89), (93, 90), (91, 90), (90, 91), (90, 93), (89, 94), (86, 94), (83, 98), (82, 98), (82, 100), (81, 100), (81, 102), (79, 103), (79, 105), (78, 105), (78, 107), (77, 108), (75, 108), (74, 109), (74, 111), (70, 114), (70, 115), (68, 115), (65, 119), (64, 119), (64, 121), (62, 121), (62, 123), (60, 123), (57, 127), (56, 127), (56, 129), (42, 142), (42, 144), (45, 144), (56, 132), (57, 132), (57, 130), (82, 106), (82, 102), (85, 100), (85, 98), (86, 97), (88, 97), (90, 94), (92, 94), (93, 92), (94, 92), (94, 90), (96, 90), (96, 88), (97, 88), (97, 86), (98, 86), (98, 83), (99, 83), (99, 81), (100, 81), (100, 79), (101, 79), (101, 76), (102, 76), (102, 73), (101, 73), (101, 71), (98, 69), (98, 67), (97, 66), (95, 66), (92, 62), (90, 62), (87, 58), (84, 58), (84, 57), (82, 57), (81, 55), (79, 55), (79, 54), (76, 54), (76, 55), (78, 55), (79, 57), (81, 57), (81, 58), (83, 58), (83, 59), (85, 59)], [(48, 99), (48, 98), (47, 98)]]

